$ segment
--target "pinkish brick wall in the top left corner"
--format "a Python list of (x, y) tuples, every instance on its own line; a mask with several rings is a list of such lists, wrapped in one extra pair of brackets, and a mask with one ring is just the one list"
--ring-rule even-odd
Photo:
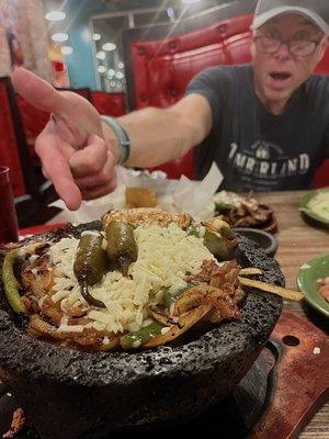
[(0, 0), (0, 76), (10, 75), (11, 59), (4, 23), (14, 27), (24, 56), (24, 67), (52, 80), (47, 56), (47, 24), (42, 0)]

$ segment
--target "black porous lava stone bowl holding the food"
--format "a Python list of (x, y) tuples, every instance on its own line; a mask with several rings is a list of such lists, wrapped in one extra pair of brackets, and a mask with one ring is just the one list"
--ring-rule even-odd
[[(70, 226), (61, 233), (81, 230)], [(283, 285), (277, 262), (248, 239), (239, 238), (235, 257)], [(194, 339), (138, 352), (89, 353), (32, 338), (1, 291), (0, 297), (0, 379), (47, 439), (102, 438), (201, 415), (251, 368), (282, 309), (281, 297), (250, 291), (241, 320)]]

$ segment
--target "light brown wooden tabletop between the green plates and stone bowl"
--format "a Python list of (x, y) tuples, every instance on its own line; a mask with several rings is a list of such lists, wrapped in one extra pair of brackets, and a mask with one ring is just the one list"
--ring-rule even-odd
[[(297, 288), (296, 275), (303, 263), (329, 252), (329, 229), (306, 224), (298, 212), (298, 202), (304, 193), (304, 191), (288, 191), (257, 194), (257, 199), (270, 205), (277, 217), (279, 249), (275, 258), (285, 275), (286, 286), (291, 289)], [(284, 308), (308, 318), (318, 328), (328, 333), (328, 319), (306, 303), (300, 305), (296, 302), (285, 302)], [(324, 371), (324, 378), (325, 373), (326, 371)], [(329, 403), (325, 404), (299, 436), (299, 439), (328, 438)]]

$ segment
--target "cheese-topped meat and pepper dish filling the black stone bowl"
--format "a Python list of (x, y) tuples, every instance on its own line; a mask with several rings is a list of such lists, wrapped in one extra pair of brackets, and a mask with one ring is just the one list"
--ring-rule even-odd
[(222, 217), (197, 224), (185, 214), (117, 210), (101, 232), (8, 251), (2, 281), (34, 337), (88, 351), (147, 349), (240, 319), (250, 286), (300, 300), (247, 278), (262, 271), (238, 266), (237, 244)]

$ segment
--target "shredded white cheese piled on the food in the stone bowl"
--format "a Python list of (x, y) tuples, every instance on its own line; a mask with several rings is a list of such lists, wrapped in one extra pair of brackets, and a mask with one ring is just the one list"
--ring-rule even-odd
[[(186, 285), (186, 273), (196, 274), (204, 260), (215, 260), (202, 238), (188, 236), (177, 224), (139, 226), (134, 234), (138, 258), (129, 266), (128, 277), (110, 271), (100, 283), (89, 288), (92, 296), (106, 306), (92, 306), (87, 312), (92, 320), (89, 326), (98, 330), (137, 330), (147, 318), (147, 305), (161, 301), (163, 286), (173, 293)], [(86, 305), (73, 274), (78, 244), (76, 238), (64, 238), (50, 247), (52, 263), (56, 267), (53, 300), (61, 300), (61, 309)]]

